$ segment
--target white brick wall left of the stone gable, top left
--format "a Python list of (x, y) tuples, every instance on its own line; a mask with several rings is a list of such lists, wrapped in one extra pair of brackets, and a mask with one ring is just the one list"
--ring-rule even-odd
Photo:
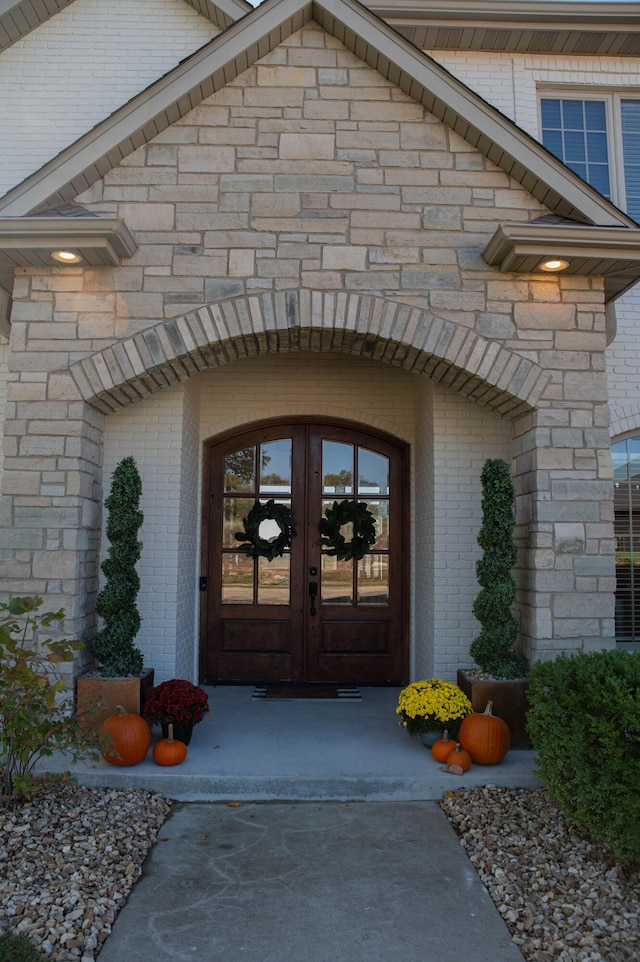
[(0, 194), (217, 33), (183, 0), (76, 0), (0, 58)]

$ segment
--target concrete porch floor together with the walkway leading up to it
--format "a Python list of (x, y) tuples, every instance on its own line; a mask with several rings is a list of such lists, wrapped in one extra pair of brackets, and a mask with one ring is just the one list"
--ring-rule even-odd
[(533, 753), (442, 772), (398, 725), (398, 692), (210, 688), (182, 765), (74, 766), (86, 785), (179, 800), (100, 962), (522, 962), (437, 799), (537, 787)]

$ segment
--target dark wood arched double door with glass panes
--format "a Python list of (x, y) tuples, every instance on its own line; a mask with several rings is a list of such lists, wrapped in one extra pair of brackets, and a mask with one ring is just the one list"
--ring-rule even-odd
[[(203, 680), (399, 684), (406, 677), (406, 446), (335, 422), (272, 422), (207, 443)], [(256, 500), (286, 504), (290, 550), (247, 557), (235, 534)], [(317, 544), (334, 501), (364, 501), (376, 540), (360, 560)], [(349, 526), (341, 529), (347, 541)], [(267, 520), (260, 535), (280, 532)]]

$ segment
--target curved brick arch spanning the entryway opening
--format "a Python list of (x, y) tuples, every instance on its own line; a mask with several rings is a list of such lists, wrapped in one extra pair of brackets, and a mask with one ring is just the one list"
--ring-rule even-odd
[(109, 413), (198, 371), (284, 351), (393, 364), (508, 417), (533, 409), (550, 381), (529, 358), (417, 307), (306, 289), (205, 305), (76, 361), (70, 373), (82, 398)]

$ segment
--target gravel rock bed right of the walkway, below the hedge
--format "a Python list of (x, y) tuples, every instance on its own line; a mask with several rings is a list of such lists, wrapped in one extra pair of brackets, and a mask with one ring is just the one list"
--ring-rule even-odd
[(525, 959), (638, 962), (638, 866), (571, 832), (543, 789), (461, 789), (441, 806)]

